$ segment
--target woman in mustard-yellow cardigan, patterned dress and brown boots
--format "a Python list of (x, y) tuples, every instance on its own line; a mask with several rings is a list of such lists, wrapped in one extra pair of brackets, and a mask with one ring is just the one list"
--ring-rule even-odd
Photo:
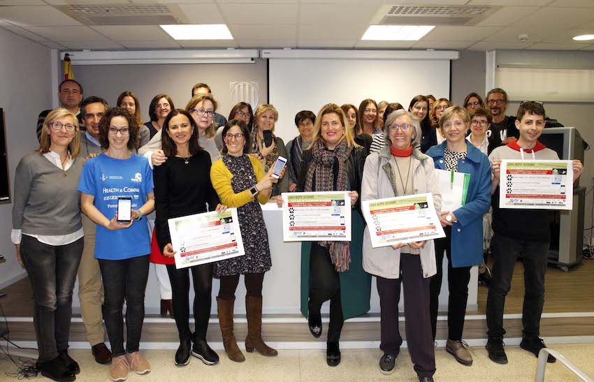
[[(274, 118), (274, 117), (272, 117)], [(238, 256), (215, 263), (215, 276), (221, 279), (217, 297), (219, 324), (223, 344), (229, 359), (235, 362), (245, 360), (233, 335), (233, 305), (235, 292), (241, 274), (245, 276), (245, 309), (247, 311), (247, 338), (245, 350), (254, 349), (261, 355), (277, 355), (275, 349), (262, 341), (262, 283), (264, 273), (270, 270), (270, 248), (268, 233), (260, 203), (265, 204), (272, 193), (273, 166), (265, 173), (256, 156), (247, 155), (251, 149), (251, 138), (245, 122), (231, 119), (223, 129), (226, 154), (210, 168), (212, 186), (224, 205), (237, 207), (245, 256)], [(284, 149), (284, 146), (282, 146)]]

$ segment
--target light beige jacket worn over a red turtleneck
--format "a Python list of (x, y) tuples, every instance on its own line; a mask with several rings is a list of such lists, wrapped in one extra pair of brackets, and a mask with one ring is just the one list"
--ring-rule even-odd
[[(362, 201), (396, 196), (396, 179), (393, 177), (394, 172), (390, 164), (390, 156), (390, 145), (384, 145), (379, 152), (374, 152), (367, 157), (361, 185)], [(433, 159), (422, 154), (418, 149), (413, 149), (412, 174), (414, 193), (432, 193), (435, 212), (439, 215), (442, 196), (437, 184)], [(425, 246), (421, 248), (419, 257), (421, 258), (424, 278), (437, 273), (433, 240), (428, 240)], [(400, 249), (395, 250), (392, 247), (373, 248), (368, 227), (365, 227), (365, 233), (363, 233), (363, 269), (365, 272), (384, 277), (384, 279), (400, 278)]]

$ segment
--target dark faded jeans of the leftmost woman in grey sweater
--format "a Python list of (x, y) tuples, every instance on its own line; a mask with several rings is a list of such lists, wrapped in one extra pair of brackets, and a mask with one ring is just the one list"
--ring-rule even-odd
[(20, 254), (33, 287), (33, 324), (40, 362), (52, 360), (68, 348), (72, 290), (82, 246), (82, 237), (71, 244), (52, 246), (22, 235)]

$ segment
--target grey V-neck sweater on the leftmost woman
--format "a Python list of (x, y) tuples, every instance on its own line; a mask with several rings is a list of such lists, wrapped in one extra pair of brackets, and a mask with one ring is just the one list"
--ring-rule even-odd
[(25, 155), (15, 172), (13, 229), (30, 235), (68, 235), (80, 230), (78, 182), (83, 163), (79, 155), (64, 171), (40, 152)]

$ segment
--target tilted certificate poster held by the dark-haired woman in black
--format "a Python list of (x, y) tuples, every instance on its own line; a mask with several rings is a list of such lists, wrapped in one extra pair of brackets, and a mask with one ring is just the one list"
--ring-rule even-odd
[(191, 267), (245, 255), (237, 209), (169, 219), (175, 267)]

